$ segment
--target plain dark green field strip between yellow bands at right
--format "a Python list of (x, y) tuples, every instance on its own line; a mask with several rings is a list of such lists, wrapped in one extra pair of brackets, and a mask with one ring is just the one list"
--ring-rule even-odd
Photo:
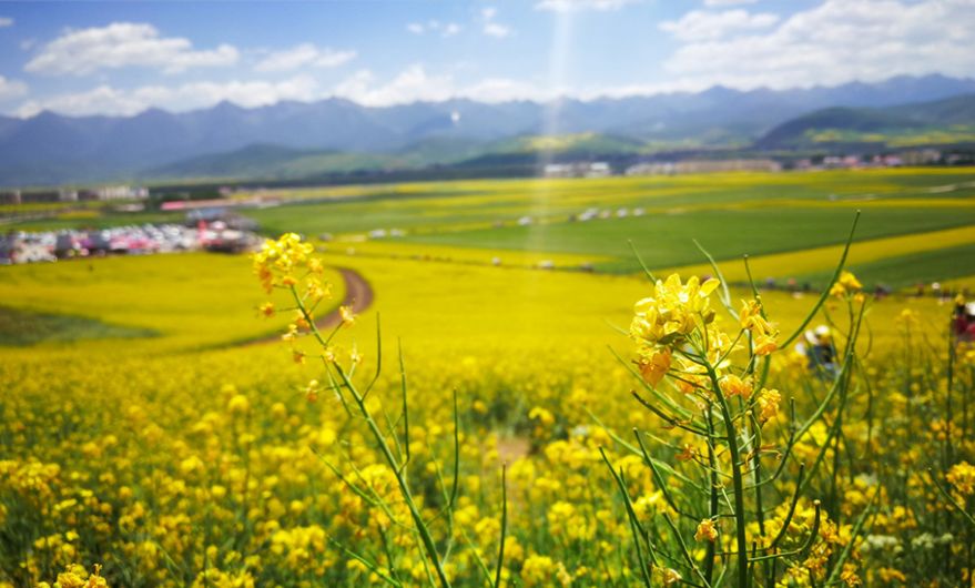
[[(601, 270), (633, 272), (633, 245), (651, 267), (672, 267), (700, 260), (697, 239), (717, 258), (760, 255), (842, 243), (853, 211), (845, 206), (816, 209), (723, 209), (693, 213), (648, 214), (641, 217), (588, 223), (552, 223), (441, 233), (410, 237), (433, 244), (515, 251), (592, 253), (613, 256)], [(931, 231), (975, 223), (975, 209), (878, 209), (864, 214), (857, 239)]]

